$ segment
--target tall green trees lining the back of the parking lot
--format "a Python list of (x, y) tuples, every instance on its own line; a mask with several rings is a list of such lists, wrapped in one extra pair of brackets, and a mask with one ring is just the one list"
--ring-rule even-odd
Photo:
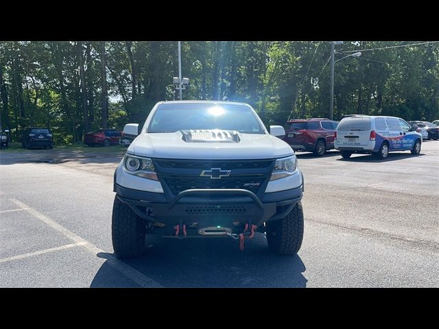
[[(439, 43), (344, 42), (359, 58), (335, 63), (334, 119), (344, 114), (387, 114), (407, 120), (439, 118)], [(80, 44), (81, 45), (81, 44)], [(383, 47), (394, 47), (379, 49)], [(79, 49), (79, 50), (78, 50)], [(244, 101), (266, 125), (289, 118), (329, 117), (330, 42), (182, 42), (183, 99)], [(78, 55), (84, 58), (86, 112)], [(102, 86), (108, 127), (143, 124), (157, 101), (176, 99), (177, 42), (106, 42), (102, 80), (100, 42), (0, 42), (0, 119), (19, 141), (28, 125), (51, 127), (57, 144), (80, 143), (84, 113), (90, 130), (102, 128)]]

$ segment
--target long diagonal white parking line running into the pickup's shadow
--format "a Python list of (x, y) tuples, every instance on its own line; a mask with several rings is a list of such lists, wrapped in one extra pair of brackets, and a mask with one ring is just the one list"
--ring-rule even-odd
[[(81, 245), (87, 249), (91, 254), (97, 255), (99, 253), (105, 253), (104, 250), (99, 249), (97, 246), (93, 245), (92, 243), (82, 239), (80, 236), (76, 235), (75, 233), (67, 230), (67, 228), (64, 228), (64, 226), (61, 226), (60, 224), (56, 223), (53, 219), (50, 219), (49, 217), (43, 215), (41, 212), (36, 211), (35, 209), (32, 209), (31, 207), (27, 206), (27, 204), (23, 204), (23, 202), (14, 199), (13, 197), (10, 198), (14, 204), (21, 208), (26, 208), (25, 210), (29, 212), (29, 214), (34, 215), (34, 217), (40, 219), (40, 221), (43, 221), (51, 228), (54, 228), (64, 236), (67, 236), (67, 238), (75, 241), (75, 243), (81, 243)], [(108, 258), (106, 258), (109, 265), (112, 265), (112, 267), (115, 267), (117, 271), (121, 272), (123, 275), (127, 276), (137, 284), (139, 284), (141, 287), (155, 287), (160, 288), (163, 287), (158, 282), (152, 280), (151, 278), (148, 278), (143, 273), (137, 271), (137, 269), (133, 269), (129, 265), (126, 265), (126, 263), (121, 262), (121, 260), (117, 259), (115, 256), (112, 256), (111, 254), (108, 254)]]

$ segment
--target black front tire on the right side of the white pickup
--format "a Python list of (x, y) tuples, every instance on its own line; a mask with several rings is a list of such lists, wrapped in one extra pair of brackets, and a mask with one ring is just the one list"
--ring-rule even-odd
[(265, 223), (270, 250), (279, 255), (294, 255), (303, 239), (303, 210), (298, 202), (288, 215)]

